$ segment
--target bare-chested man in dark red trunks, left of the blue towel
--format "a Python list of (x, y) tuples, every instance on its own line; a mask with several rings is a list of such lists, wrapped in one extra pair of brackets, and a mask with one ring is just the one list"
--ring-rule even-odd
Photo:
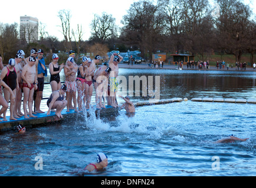
[[(37, 90), (37, 84), (35, 84), (37, 80), (37, 70), (35, 66), (34, 56), (30, 56), (28, 59), (28, 64), (24, 66), (22, 69), (21, 78), (23, 79), (23, 110), (24, 110), (24, 118), (29, 119), (30, 117), (36, 117), (32, 115), (32, 104), (34, 99), (34, 90)], [(28, 113), (27, 115), (27, 105), (28, 105)]]

